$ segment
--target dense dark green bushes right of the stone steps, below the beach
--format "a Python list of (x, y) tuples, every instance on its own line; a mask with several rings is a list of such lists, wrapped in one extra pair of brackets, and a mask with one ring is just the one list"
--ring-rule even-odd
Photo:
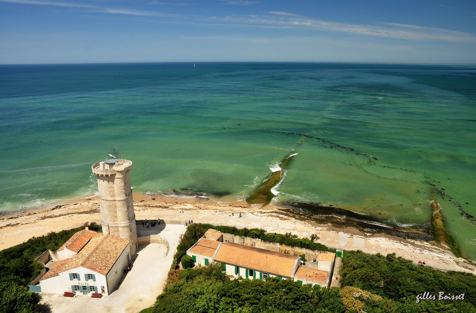
[(385, 257), (379, 253), (345, 251), (340, 275), (341, 287), (358, 287), (401, 303), (415, 302), (420, 293), (445, 292), (452, 295), (465, 293), (464, 302), (476, 306), (475, 275), (445, 273), (430, 266), (415, 265), (401, 257), (396, 258), (395, 253)]

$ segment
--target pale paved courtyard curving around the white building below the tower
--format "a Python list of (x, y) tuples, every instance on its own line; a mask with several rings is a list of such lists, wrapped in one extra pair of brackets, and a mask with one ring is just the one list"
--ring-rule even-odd
[(137, 313), (152, 306), (162, 292), (179, 237), (185, 230), (185, 225), (174, 224), (161, 227), (160, 231), (155, 229), (154, 233), (159, 231), (160, 236), (167, 238), (169, 254), (166, 255), (167, 247), (161, 243), (139, 246), (134, 267), (109, 297), (42, 294), (40, 309), (45, 313)]

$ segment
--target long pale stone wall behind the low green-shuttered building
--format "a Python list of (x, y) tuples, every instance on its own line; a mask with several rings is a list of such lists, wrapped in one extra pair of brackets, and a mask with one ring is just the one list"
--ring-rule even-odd
[(251, 247), (257, 247), (261, 249), (282, 252), (282, 253), (289, 253), (292, 255), (305, 254), (306, 261), (312, 261), (312, 259), (317, 259), (317, 256), (319, 255), (319, 253), (328, 253), (328, 252), (310, 250), (306, 248), (291, 247), (287, 245), (282, 245), (278, 242), (266, 242), (266, 241), (262, 241), (261, 239), (237, 236), (230, 233), (223, 233), (223, 241), (235, 242), (238, 244), (245, 244)]

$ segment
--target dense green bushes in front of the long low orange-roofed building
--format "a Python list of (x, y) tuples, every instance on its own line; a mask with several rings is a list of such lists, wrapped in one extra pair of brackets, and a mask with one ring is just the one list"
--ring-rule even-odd
[(183, 270), (157, 298), (154, 313), (322, 312), (344, 313), (337, 288), (301, 285), (292, 280), (230, 280), (221, 264)]

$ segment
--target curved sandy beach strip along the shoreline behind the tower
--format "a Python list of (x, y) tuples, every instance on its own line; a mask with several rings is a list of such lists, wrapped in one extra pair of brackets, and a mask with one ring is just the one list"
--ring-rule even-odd
[[(291, 232), (299, 237), (315, 233), (321, 242), (344, 250), (361, 250), (367, 253), (396, 253), (417, 263), (444, 271), (462, 271), (476, 274), (476, 266), (465, 259), (456, 258), (431, 242), (404, 239), (385, 232), (363, 232), (357, 226), (333, 226), (330, 222), (319, 223), (306, 214), (292, 213), (289, 209), (268, 205), (254, 208), (246, 202), (218, 203), (208, 198), (178, 198), (164, 195), (134, 194), (136, 220), (181, 220), (236, 226), (238, 228), (262, 228), (268, 232)], [(181, 213), (180, 211), (184, 211)], [(239, 218), (238, 214), (243, 217)], [(232, 215), (234, 213), (234, 215)], [(71, 200), (46, 209), (20, 212), (0, 219), (0, 249), (6, 249), (49, 232), (78, 227), (85, 222), (100, 222), (97, 196)], [(138, 227), (140, 227), (138, 225)]]

